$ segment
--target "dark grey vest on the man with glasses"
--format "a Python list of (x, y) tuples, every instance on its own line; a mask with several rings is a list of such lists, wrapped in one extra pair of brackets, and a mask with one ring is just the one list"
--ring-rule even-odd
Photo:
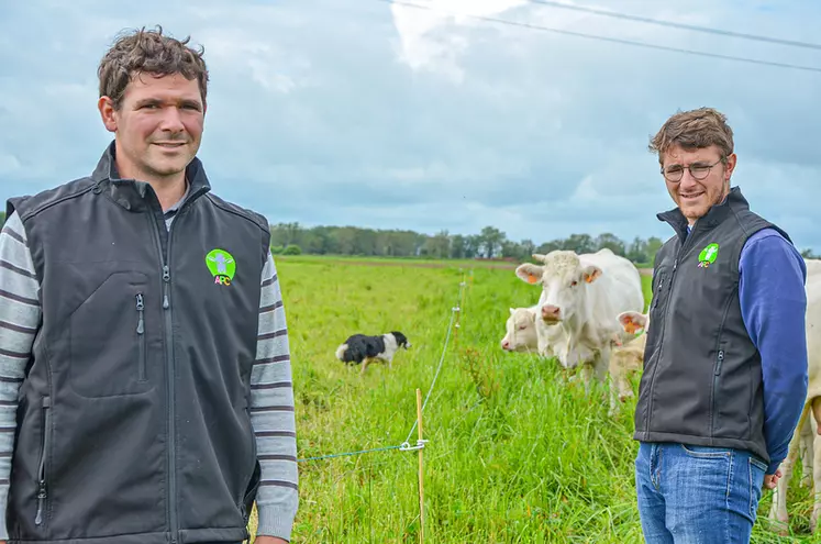
[(750, 451), (769, 463), (761, 356), (744, 326), (739, 259), (762, 229), (739, 188), (687, 234), (678, 209), (657, 215), (676, 235), (656, 255), (634, 438)]

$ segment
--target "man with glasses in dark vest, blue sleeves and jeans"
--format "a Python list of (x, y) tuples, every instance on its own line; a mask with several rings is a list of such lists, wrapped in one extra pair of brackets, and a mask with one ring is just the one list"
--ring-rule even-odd
[(750, 542), (762, 487), (807, 395), (806, 265), (730, 186), (726, 118), (678, 112), (653, 137), (676, 208), (653, 268), (635, 409), (639, 512), (648, 543)]

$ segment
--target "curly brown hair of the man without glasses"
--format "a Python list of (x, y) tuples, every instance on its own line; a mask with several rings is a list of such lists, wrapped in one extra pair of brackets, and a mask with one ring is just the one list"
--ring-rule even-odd
[(176, 40), (163, 35), (163, 27), (145, 30), (143, 26), (118, 37), (100, 60), (97, 76), (100, 80), (100, 97), (109, 97), (119, 110), (129, 82), (141, 73), (153, 76), (180, 74), (188, 80), (197, 79), (206, 103), (208, 69), (202, 58), (204, 47), (188, 46), (190, 36)]

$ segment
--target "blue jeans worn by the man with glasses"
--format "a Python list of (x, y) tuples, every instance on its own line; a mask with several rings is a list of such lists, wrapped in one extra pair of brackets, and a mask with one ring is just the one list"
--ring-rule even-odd
[(741, 449), (641, 443), (635, 488), (645, 541), (748, 543), (766, 469)]

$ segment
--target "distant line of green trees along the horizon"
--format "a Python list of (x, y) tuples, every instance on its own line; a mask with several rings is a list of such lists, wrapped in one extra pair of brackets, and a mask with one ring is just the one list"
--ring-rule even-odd
[[(0, 224), (5, 213), (0, 211)], [(550, 241), (509, 240), (504, 232), (486, 226), (477, 234), (450, 234), (440, 231), (424, 234), (410, 230), (364, 229), (358, 226), (306, 227), (298, 222), (270, 226), (271, 251), (276, 254), (345, 255), (364, 257), (423, 257), (434, 259), (482, 258), (522, 262), (534, 253), (570, 249), (592, 253), (603, 247), (626, 257), (636, 265), (652, 265), (663, 241), (651, 236), (623, 241), (612, 233), (597, 236), (572, 234)], [(810, 249), (801, 252), (807, 258), (821, 258)]]

